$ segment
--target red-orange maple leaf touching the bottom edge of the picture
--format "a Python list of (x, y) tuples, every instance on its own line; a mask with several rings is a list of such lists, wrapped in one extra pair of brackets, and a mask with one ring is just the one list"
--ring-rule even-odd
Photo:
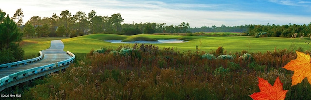
[(249, 95), (254, 100), (284, 100), (288, 91), (283, 90), (283, 83), (279, 77), (276, 78), (273, 86), (267, 80), (258, 77), (258, 87), (260, 92)]

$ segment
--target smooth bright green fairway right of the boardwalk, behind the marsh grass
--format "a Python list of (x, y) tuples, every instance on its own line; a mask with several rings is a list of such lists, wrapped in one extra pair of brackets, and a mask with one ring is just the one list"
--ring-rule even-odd
[[(247, 50), (249, 52), (266, 52), (267, 50), (272, 51), (275, 49), (289, 49), (291, 44), (298, 47), (302, 47), (304, 50), (310, 50), (310, 45), (307, 45), (310, 40), (305, 39), (293, 39), (293, 38), (282, 38), (282, 37), (271, 37), (271, 38), (254, 38), (250, 36), (227, 36), (227, 37), (204, 37), (204, 36), (175, 36), (175, 35), (134, 35), (134, 36), (123, 36), (123, 35), (112, 35), (112, 34), (93, 34), (86, 35), (76, 38), (63, 39), (65, 44), (64, 50), (69, 50), (73, 53), (89, 53), (92, 49), (99, 49), (101, 47), (106, 48), (117, 48), (121, 43), (109, 43), (103, 40), (108, 39), (125, 39), (131, 37), (147, 37), (152, 39), (183, 39), (188, 40), (185, 43), (167, 43), (167, 44), (154, 44), (163, 47), (174, 47), (176, 50), (188, 51), (196, 50), (196, 46), (202, 51), (209, 52), (216, 50), (218, 47), (223, 46), (227, 52), (235, 52)], [(306, 42), (306, 43), (305, 43)]]

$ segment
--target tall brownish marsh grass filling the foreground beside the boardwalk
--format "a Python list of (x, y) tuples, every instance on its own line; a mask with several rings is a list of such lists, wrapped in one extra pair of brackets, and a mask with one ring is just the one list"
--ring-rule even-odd
[[(121, 54), (124, 48), (131, 51)], [(273, 84), (278, 76), (290, 90), (286, 99), (311, 97), (306, 80), (291, 87), (293, 72), (281, 68), (296, 57), (288, 50), (248, 53), (249, 59), (240, 57), (247, 51), (228, 53), (233, 59), (203, 59), (207, 52), (148, 44), (93, 51), (23, 99), (251, 100), (248, 95), (259, 92), (257, 77)]]

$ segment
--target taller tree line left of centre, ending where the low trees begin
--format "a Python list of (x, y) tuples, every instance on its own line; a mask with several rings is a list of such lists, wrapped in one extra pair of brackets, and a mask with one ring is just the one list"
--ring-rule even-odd
[[(22, 14), (22, 10), (18, 11)], [(190, 33), (189, 23), (182, 22), (180, 25), (166, 25), (165, 23), (124, 23), (120, 13), (111, 16), (96, 15), (94, 10), (88, 15), (78, 11), (72, 15), (68, 10), (55, 13), (52, 17), (33, 16), (22, 28), (25, 37), (66, 36), (74, 37), (94, 33), (111, 34), (152, 34), (152, 33)]]

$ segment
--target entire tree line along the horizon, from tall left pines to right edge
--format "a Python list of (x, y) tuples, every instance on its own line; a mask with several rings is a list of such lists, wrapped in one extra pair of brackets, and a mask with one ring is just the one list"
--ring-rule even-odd
[[(20, 26), (23, 12), (17, 9), (13, 20)], [(189, 23), (182, 22), (179, 25), (167, 25), (166, 23), (123, 23), (120, 13), (111, 16), (97, 15), (94, 10), (88, 14), (82, 11), (71, 14), (68, 10), (61, 11), (60, 15), (52, 14), (52, 17), (33, 16), (29, 19), (22, 32), (27, 38), (46, 36), (70, 36), (86, 35), (94, 33), (110, 33), (122, 35), (152, 34), (152, 33), (195, 33), (195, 32), (241, 32), (255, 37), (292, 37), (307, 36), (310, 33), (309, 25), (254, 25), (245, 24), (240, 26), (202, 26), (190, 28)]]

